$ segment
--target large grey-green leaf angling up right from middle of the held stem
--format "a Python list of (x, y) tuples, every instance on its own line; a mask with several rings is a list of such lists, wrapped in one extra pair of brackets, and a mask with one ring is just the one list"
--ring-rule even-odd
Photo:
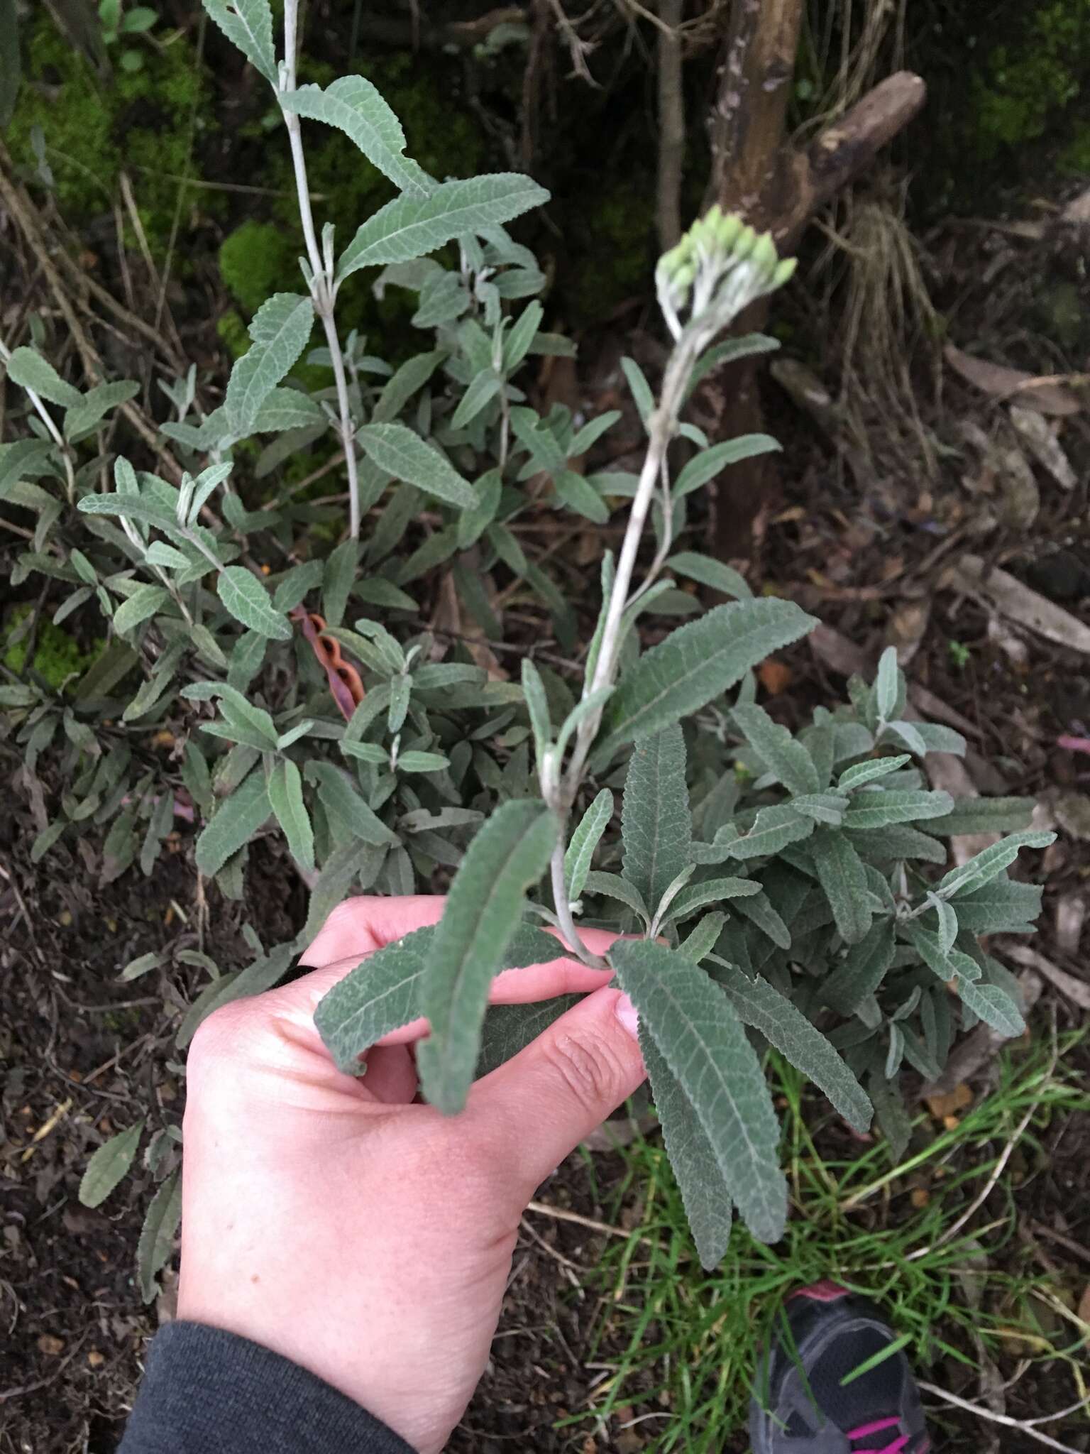
[(602, 720), (602, 755), (699, 711), (815, 624), (794, 601), (764, 598), (715, 606), (679, 627), (622, 676)]

